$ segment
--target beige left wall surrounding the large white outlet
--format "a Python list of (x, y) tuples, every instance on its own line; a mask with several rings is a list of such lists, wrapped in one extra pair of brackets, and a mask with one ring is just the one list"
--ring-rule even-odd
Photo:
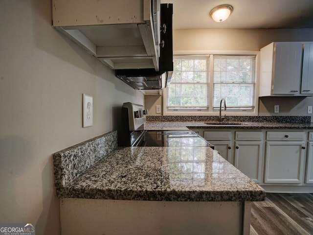
[(117, 129), (122, 103), (144, 97), (51, 27), (51, 0), (0, 1), (0, 32), (0, 222), (58, 235), (51, 154)]

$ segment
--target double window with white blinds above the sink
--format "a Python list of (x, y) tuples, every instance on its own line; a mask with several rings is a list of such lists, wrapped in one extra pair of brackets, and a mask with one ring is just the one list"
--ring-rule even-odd
[(166, 110), (215, 112), (224, 98), (227, 112), (254, 112), (255, 58), (255, 55), (174, 56)]

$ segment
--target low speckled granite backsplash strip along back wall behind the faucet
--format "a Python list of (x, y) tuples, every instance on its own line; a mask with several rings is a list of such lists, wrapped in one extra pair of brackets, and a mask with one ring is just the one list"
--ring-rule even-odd
[[(146, 121), (218, 121), (218, 116), (146, 116)], [(311, 116), (226, 116), (225, 121), (310, 123)]]

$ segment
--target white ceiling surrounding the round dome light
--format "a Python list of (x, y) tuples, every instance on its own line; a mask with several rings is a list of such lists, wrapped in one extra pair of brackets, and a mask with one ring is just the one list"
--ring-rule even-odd
[[(162, 0), (173, 3), (173, 29), (313, 28), (313, 0)], [(212, 8), (230, 4), (229, 18), (216, 23)]]

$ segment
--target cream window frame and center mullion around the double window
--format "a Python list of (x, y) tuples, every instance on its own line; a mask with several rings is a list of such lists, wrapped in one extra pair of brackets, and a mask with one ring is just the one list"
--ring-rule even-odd
[[(225, 110), (224, 114), (229, 116), (258, 116), (258, 100), (259, 100), (259, 68), (260, 68), (260, 51), (174, 51), (174, 55), (181, 56), (210, 56), (210, 62), (213, 61), (214, 55), (255, 55), (255, 106), (253, 111), (244, 110)], [(210, 86), (209, 94), (213, 94), (213, 63), (210, 63)], [(167, 108), (167, 88), (163, 89), (163, 115), (164, 116), (216, 116), (219, 114), (218, 108), (213, 108), (213, 96), (209, 98), (209, 108), (208, 109), (179, 109), (178, 111), (173, 111)], [(226, 103), (227, 105), (227, 103)]]

